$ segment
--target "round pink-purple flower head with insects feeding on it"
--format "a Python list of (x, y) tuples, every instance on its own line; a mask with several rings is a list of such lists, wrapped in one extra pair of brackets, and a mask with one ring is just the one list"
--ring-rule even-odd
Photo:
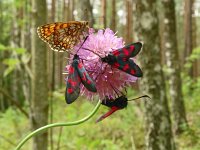
[[(79, 47), (80, 44), (75, 47), (75, 51), (77, 51)], [(124, 47), (123, 39), (118, 38), (109, 28), (99, 30), (97, 33), (95, 33), (93, 29), (90, 29), (88, 39), (83, 44), (82, 48), (78, 50), (77, 54), (80, 59), (83, 60), (84, 67), (90, 74), (90, 77), (96, 82), (97, 93), (88, 91), (82, 85), (82, 95), (86, 95), (89, 98), (93, 98), (97, 95), (100, 99), (105, 98), (105, 96), (116, 96), (113, 87), (122, 90), (125, 86), (137, 80), (137, 77), (103, 63), (99, 57), (105, 57), (109, 52), (122, 47)], [(93, 52), (85, 50), (84, 48)], [(73, 56), (70, 58), (72, 59)]]

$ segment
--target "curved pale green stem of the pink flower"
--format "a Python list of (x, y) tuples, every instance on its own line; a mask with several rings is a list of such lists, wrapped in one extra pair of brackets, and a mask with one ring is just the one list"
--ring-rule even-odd
[(78, 120), (78, 121), (74, 121), (74, 122), (63, 122), (63, 123), (53, 123), (53, 124), (48, 124), (46, 126), (43, 126), (33, 132), (31, 132), (30, 134), (28, 134), (15, 148), (15, 150), (19, 150), (25, 143), (27, 140), (29, 140), (31, 137), (33, 137), (34, 135), (41, 133), (49, 128), (52, 127), (61, 127), (61, 126), (73, 126), (73, 125), (79, 125), (87, 120), (89, 120), (98, 110), (98, 108), (101, 105), (101, 101), (99, 100), (99, 102), (97, 103), (96, 107), (94, 108), (94, 110), (85, 118)]

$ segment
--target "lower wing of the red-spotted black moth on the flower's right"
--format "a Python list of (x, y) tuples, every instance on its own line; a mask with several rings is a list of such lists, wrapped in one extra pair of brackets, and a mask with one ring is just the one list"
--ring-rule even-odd
[(117, 59), (116, 62), (113, 63), (111, 66), (135, 77), (143, 76), (142, 70), (137, 64), (134, 63), (132, 59), (128, 59), (127, 61)]

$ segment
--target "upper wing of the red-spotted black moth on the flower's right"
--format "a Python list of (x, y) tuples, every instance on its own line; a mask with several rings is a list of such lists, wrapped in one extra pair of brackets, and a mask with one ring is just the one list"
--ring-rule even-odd
[(140, 52), (141, 48), (142, 43), (137, 42), (115, 50), (111, 52), (111, 54), (114, 55), (117, 59), (127, 60), (130, 57), (136, 56)]

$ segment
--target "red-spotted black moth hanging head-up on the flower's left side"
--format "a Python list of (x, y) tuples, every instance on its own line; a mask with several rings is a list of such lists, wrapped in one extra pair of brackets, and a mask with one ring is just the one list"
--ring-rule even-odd
[(89, 91), (97, 92), (95, 82), (85, 70), (77, 54), (74, 55), (73, 62), (69, 67), (65, 100), (67, 104), (74, 102), (80, 94), (80, 84), (83, 84)]

